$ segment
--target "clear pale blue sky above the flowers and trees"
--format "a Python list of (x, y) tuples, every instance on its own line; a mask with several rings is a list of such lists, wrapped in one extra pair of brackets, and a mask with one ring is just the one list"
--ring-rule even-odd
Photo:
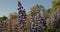
[[(45, 9), (49, 9), (52, 6), (52, 0), (19, 0), (22, 6), (25, 8), (26, 13), (30, 11), (30, 8), (37, 3), (43, 5)], [(10, 13), (18, 13), (17, 0), (0, 0), (0, 17), (7, 16)]]

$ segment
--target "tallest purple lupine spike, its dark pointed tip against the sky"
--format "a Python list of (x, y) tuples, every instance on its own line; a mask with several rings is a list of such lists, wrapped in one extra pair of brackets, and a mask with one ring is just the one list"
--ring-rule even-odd
[(23, 8), (22, 4), (18, 1), (18, 10), (19, 10), (19, 16), (18, 16), (18, 21), (20, 24), (20, 29), (25, 31), (26, 30), (26, 12), (25, 9)]

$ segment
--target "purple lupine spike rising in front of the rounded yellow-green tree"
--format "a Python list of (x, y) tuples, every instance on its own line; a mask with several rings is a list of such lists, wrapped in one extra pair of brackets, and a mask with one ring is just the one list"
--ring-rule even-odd
[(41, 17), (41, 13), (40, 13), (41, 8), (39, 8), (38, 4), (36, 6), (37, 6), (37, 8), (36, 8), (37, 14), (39, 14), (38, 17), (36, 18), (36, 22), (37, 22), (37, 26), (38, 26), (37, 31), (43, 31), (44, 30), (43, 27), (46, 24), (46, 21)]

